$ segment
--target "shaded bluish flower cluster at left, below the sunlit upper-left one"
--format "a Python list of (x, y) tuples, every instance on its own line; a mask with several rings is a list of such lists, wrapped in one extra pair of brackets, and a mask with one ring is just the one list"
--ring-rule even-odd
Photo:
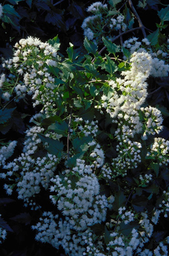
[[(18, 158), (13, 159), (13, 162), (4, 164), (3, 169), (8, 170), (8, 172), (1, 173), (3, 178), (8, 177), (10, 180), (13, 176), (15, 179), (14, 184), (4, 185), (6, 193), (11, 195), (16, 185), (18, 198), (24, 200), (26, 206), (27, 204), (32, 205), (32, 198), (40, 193), (41, 186), (45, 189), (48, 188), (58, 163), (57, 157), (48, 153), (46, 156), (34, 158), (37, 150), (44, 148), (40, 138), (38, 138), (38, 132), (43, 131), (44, 129), (40, 127), (31, 127), (27, 130), (27, 140), (24, 143), (23, 153)], [(33, 205), (33, 209), (38, 209), (35, 202)]]

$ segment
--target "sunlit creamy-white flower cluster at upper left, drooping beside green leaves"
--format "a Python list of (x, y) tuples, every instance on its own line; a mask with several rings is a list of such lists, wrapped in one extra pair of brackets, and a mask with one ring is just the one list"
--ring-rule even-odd
[(9, 100), (13, 90), (17, 101), (28, 93), (34, 100), (33, 106), (43, 104), (42, 111), (50, 116), (56, 106), (55, 95), (58, 94), (58, 85), (54, 83), (54, 76), (50, 72), (50, 67), (57, 65), (57, 51), (47, 42), (43, 43), (31, 36), (21, 39), (15, 48), (14, 57), (3, 63), (3, 67), (13, 69), (14, 73), (13, 77), (9, 75), (7, 78), (1, 75), (1, 88), (8, 88), (8, 95), (5, 92), (3, 98)]

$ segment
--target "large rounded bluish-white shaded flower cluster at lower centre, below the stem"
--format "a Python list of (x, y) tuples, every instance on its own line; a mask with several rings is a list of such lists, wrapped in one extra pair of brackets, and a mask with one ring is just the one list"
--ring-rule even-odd
[(64, 179), (56, 175), (52, 182), (54, 186), (50, 191), (57, 192), (57, 196), (50, 198), (54, 204), (57, 202), (62, 214), (70, 216), (70, 224), (75, 230), (85, 230), (105, 220), (107, 199), (99, 195), (98, 179), (84, 160), (77, 159), (77, 166), (72, 171), (66, 170)]

